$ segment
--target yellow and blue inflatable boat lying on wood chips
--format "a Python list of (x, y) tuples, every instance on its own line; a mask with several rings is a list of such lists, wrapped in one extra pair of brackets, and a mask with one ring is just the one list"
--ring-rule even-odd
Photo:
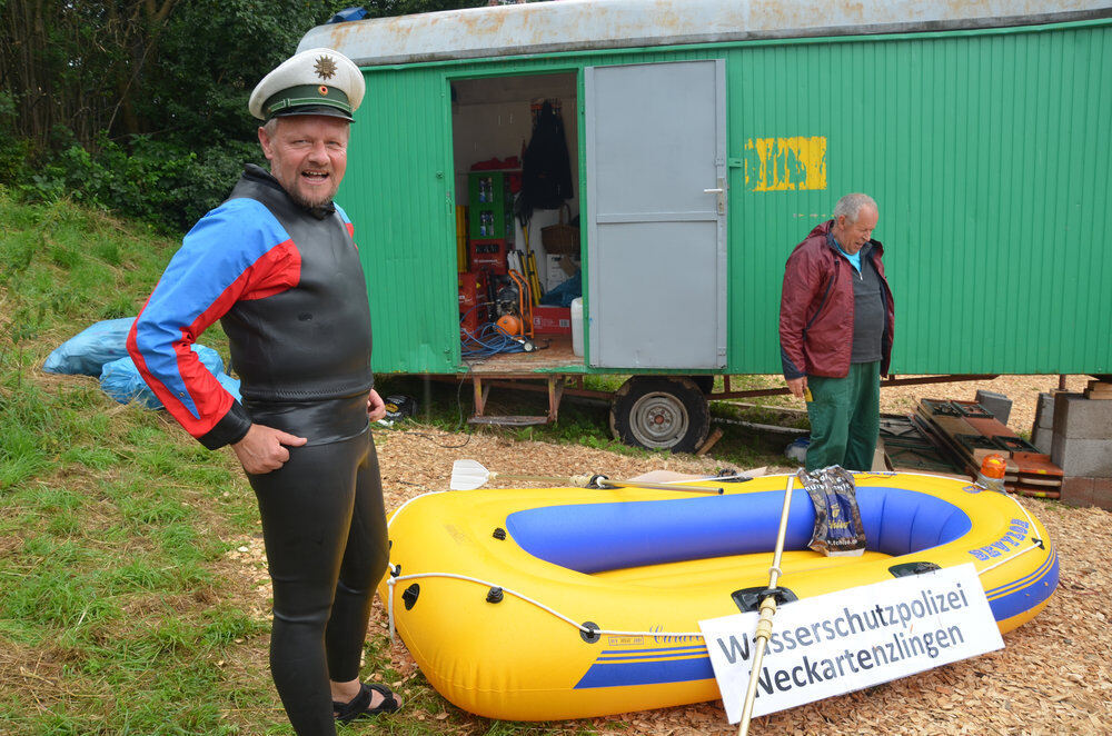
[[(868, 548), (807, 549), (793, 495), (780, 586), (800, 598), (973, 563), (1001, 631), (1058, 585), (1046, 530), (1013, 497), (925, 475), (856, 474)], [(433, 686), (489, 718), (549, 720), (718, 698), (698, 621), (767, 585), (787, 476), (722, 495), (622, 488), (446, 491), (390, 518), (380, 594)], [(748, 589), (748, 591), (747, 591)]]

